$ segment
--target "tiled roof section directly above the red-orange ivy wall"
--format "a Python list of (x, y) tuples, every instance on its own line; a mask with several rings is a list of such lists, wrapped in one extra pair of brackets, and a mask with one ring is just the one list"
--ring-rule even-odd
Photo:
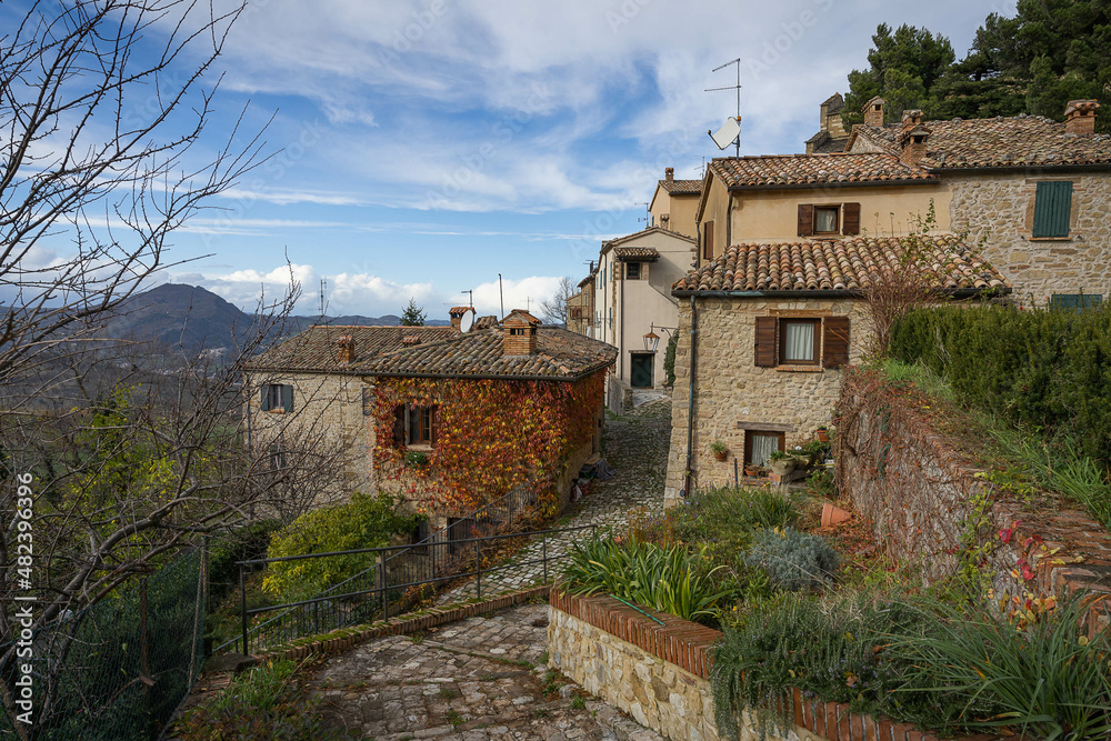
[(366, 375), (550, 378), (574, 380), (611, 366), (617, 348), (554, 327), (537, 330), (537, 352), (506, 356), (499, 328), (471, 330), (438, 342), (376, 357), (357, 369)]

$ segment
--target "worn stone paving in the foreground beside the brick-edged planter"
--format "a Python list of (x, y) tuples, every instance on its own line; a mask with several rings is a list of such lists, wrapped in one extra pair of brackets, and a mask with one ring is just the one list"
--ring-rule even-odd
[[(331, 728), (376, 741), (662, 741), (573, 684), (544, 698), (548, 605), (394, 635), (329, 659), (310, 692)], [(554, 689), (550, 687), (549, 689)]]

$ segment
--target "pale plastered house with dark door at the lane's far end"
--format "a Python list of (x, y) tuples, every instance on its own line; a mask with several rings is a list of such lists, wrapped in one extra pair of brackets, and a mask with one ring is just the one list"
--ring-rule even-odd
[(690, 269), (693, 249), (693, 238), (650, 227), (603, 242), (597, 267), (581, 283), (593, 289), (590, 337), (618, 349), (608, 392), (617, 413), (628, 408), (631, 389), (663, 385), (667, 341), (652, 344), (645, 336), (673, 331), (679, 308), (671, 286)]

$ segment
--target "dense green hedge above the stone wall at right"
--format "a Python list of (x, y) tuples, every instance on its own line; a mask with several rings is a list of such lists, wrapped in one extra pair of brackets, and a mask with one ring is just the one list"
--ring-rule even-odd
[(1111, 308), (918, 309), (895, 324), (889, 351), (972, 404), (1111, 465)]

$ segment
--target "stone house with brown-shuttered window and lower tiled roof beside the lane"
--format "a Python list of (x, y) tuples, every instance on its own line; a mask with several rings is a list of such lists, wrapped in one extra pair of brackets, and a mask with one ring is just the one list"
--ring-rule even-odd
[[(831, 422), (841, 368), (867, 347), (862, 289), (919, 256), (938, 293), (974, 299), (1007, 281), (952, 236), (734, 244), (677, 281), (682, 302), (664, 503), (732, 482)], [(724, 462), (710, 451), (729, 449)]]

